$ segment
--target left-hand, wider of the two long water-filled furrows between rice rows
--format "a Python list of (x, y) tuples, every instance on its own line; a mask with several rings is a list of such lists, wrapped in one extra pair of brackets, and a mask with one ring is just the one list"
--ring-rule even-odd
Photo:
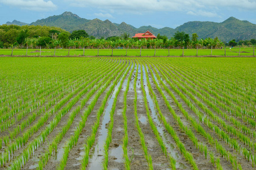
[[(89, 165), (89, 169), (91, 169), (91, 170), (102, 169), (102, 160), (104, 158), (104, 156), (103, 156), (104, 155), (104, 143), (106, 141), (107, 133), (108, 133), (107, 128), (108, 128), (108, 123), (110, 122), (110, 112), (111, 112), (112, 106), (114, 104), (116, 92), (118, 91), (118, 88), (120, 86), (121, 79), (123, 78), (123, 76), (120, 78), (119, 82), (116, 84), (116, 86), (114, 88), (114, 92), (111, 95), (110, 100), (108, 100), (108, 105), (104, 111), (102, 124), (101, 124), (100, 130), (99, 130), (98, 143), (94, 147), (94, 153), (91, 155), (91, 160), (90, 160), (91, 163)], [(120, 155), (123, 155), (123, 150), (121, 150)]]

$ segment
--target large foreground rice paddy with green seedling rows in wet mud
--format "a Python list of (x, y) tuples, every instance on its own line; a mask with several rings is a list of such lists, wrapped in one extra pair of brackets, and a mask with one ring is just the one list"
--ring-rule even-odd
[(1, 169), (255, 169), (256, 59), (1, 57)]

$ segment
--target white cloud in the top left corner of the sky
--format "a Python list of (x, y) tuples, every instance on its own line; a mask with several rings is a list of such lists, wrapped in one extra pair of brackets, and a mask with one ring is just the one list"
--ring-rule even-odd
[(0, 3), (31, 11), (52, 11), (57, 8), (52, 1), (44, 0), (0, 0)]

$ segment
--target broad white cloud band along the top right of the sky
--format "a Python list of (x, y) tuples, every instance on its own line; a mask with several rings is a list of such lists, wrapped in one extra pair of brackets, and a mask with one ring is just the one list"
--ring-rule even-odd
[[(205, 13), (212, 17), (213, 14), (203, 12), (209, 8), (218, 10), (219, 7), (231, 7), (241, 10), (256, 10), (256, 0), (66, 0), (72, 5), (80, 7), (95, 7), (104, 10), (123, 12), (149, 12), (149, 11), (184, 11), (196, 15)], [(195, 12), (202, 10), (201, 12)], [(212, 12), (215, 13), (215, 12)]]

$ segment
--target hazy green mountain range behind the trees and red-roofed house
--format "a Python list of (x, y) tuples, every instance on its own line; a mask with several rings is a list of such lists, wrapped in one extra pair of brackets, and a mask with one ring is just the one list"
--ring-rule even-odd
[(250, 23), (246, 20), (239, 20), (234, 17), (226, 19), (222, 23), (216, 22), (187, 22), (179, 27), (173, 29), (169, 27), (164, 28), (154, 28), (152, 26), (142, 26), (140, 28), (135, 28), (125, 22), (121, 24), (112, 23), (110, 20), (100, 20), (100, 19), (85, 19), (80, 18), (78, 15), (72, 12), (64, 12), (61, 15), (49, 16), (45, 19), (36, 20), (31, 24), (19, 22), (14, 20), (13, 22), (7, 22), (7, 25), (47, 25), (60, 27), (66, 31), (72, 32), (74, 30), (83, 29), (89, 35), (100, 37), (110, 37), (110, 36), (120, 36), (124, 32), (129, 33), (130, 37), (134, 36), (135, 33), (150, 31), (154, 35), (166, 35), (167, 37), (172, 37), (175, 32), (186, 32), (192, 36), (192, 33), (197, 33), (199, 39), (205, 39), (211, 37), (219, 37), (222, 41), (230, 41), (235, 39), (239, 40), (250, 40), (256, 39), (256, 24)]

